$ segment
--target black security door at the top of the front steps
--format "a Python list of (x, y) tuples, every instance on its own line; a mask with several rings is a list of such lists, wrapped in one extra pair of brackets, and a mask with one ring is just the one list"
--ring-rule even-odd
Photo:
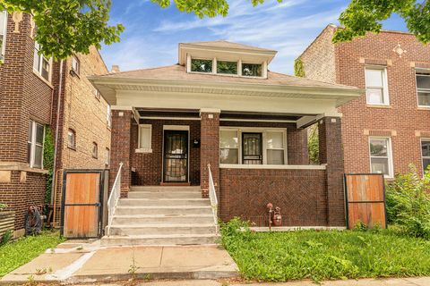
[(188, 181), (188, 131), (164, 131), (163, 181)]

